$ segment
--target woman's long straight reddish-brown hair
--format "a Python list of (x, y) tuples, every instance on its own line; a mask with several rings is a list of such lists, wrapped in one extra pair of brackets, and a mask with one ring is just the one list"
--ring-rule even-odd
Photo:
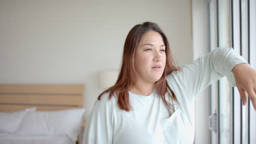
[[(131, 105), (129, 102), (129, 90), (133, 86), (135, 86), (136, 83), (136, 71), (134, 62), (135, 51), (143, 34), (147, 33), (148, 31), (158, 32), (161, 35), (162, 40), (164, 41), (166, 47), (166, 64), (164, 73), (162, 74), (161, 78), (155, 82), (154, 88), (156, 89), (156, 92), (160, 95), (161, 99), (164, 101), (164, 104), (166, 105), (168, 112), (170, 113), (170, 110), (174, 110), (173, 105), (168, 103), (168, 101), (166, 101), (165, 99), (165, 94), (168, 93), (171, 99), (177, 102), (176, 95), (166, 82), (166, 75), (172, 73), (175, 70), (180, 70), (180, 68), (175, 65), (166, 35), (164, 34), (164, 32), (162, 32), (160, 27), (154, 22), (144, 22), (142, 23), (142, 25), (138, 24), (134, 26), (128, 33), (124, 44), (122, 65), (120, 73), (118, 75), (117, 82), (115, 82), (114, 86), (102, 92), (98, 96), (98, 100), (101, 99), (101, 95), (109, 92), (109, 99), (112, 98), (113, 94), (117, 96), (117, 103), (120, 109), (123, 109), (125, 111), (131, 110)], [(167, 91), (167, 89), (169, 91)]]

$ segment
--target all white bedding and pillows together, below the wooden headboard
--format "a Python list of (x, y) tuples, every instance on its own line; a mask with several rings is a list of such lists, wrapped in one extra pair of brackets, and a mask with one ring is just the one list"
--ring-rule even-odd
[(75, 144), (85, 109), (21, 112), (0, 113), (0, 144)]

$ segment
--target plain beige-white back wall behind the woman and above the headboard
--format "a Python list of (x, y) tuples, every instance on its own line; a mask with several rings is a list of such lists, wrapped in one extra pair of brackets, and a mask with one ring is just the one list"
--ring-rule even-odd
[(119, 69), (137, 23), (166, 33), (179, 65), (193, 60), (190, 1), (0, 1), (0, 83), (84, 83), (89, 116), (99, 70)]

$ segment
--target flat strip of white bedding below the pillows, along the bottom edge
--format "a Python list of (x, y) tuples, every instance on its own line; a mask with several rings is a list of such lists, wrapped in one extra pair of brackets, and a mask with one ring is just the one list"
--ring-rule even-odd
[(68, 136), (15, 136), (0, 134), (2, 144), (75, 144)]

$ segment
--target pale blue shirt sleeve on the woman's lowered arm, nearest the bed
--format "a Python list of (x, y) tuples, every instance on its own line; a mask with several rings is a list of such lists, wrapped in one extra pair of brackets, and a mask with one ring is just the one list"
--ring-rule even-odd
[(103, 94), (101, 100), (97, 100), (88, 122), (85, 125), (83, 144), (112, 143), (112, 110), (108, 95)]

